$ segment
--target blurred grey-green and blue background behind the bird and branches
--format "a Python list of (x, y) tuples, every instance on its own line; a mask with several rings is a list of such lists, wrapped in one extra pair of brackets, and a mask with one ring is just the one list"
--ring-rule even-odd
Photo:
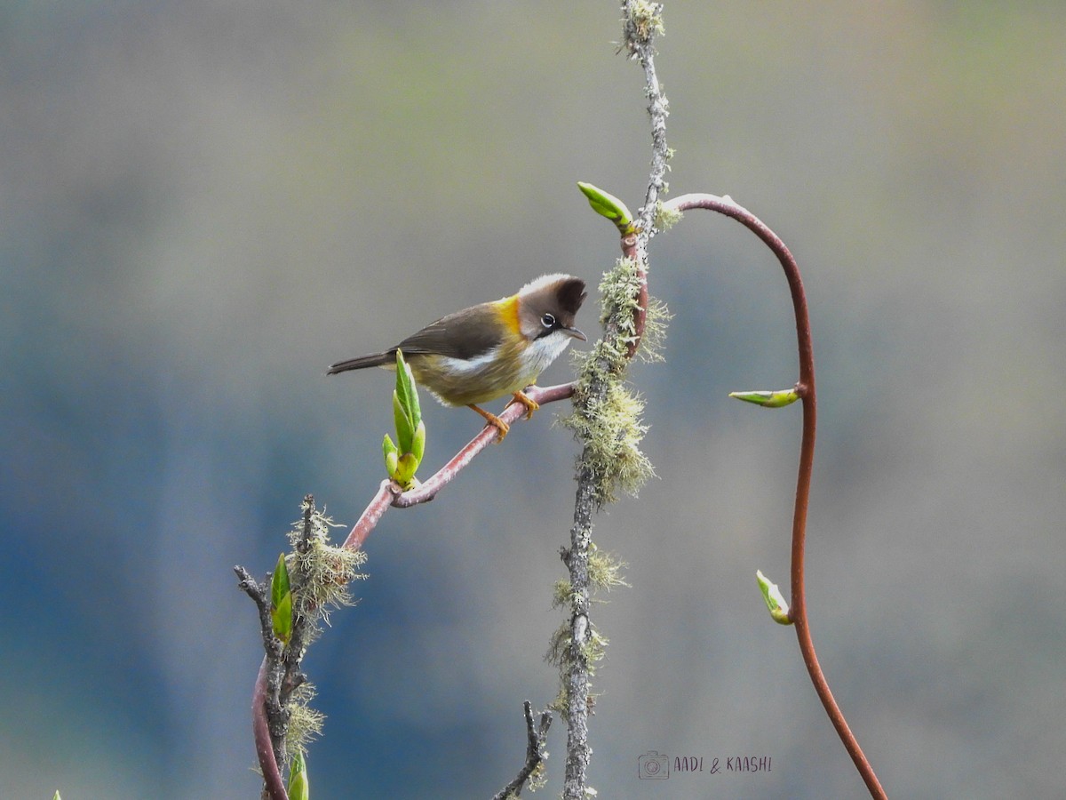
[[(251, 798), (265, 574), (312, 493), (351, 525), (392, 378), (326, 379), (544, 272), (595, 287), (634, 210), (643, 76), (615, 2), (12, 2), (0, 9), (0, 796)], [(671, 191), (728, 193), (807, 284), (821, 427), (808, 602), (895, 797), (1062, 797), (1066, 7), (668, 0)], [(788, 592), (798, 406), (780, 270), (692, 212), (651, 251), (675, 318), (637, 366), (658, 478), (599, 515), (605, 798), (863, 788)], [(595, 331), (589, 302), (579, 317)], [(563, 358), (543, 383), (565, 381)], [(502, 403), (501, 403), (502, 405)], [(306, 660), (320, 798), (488, 798), (556, 692), (577, 448), (517, 427), (367, 542)], [(480, 428), (426, 400), (423, 469)], [(338, 535), (343, 530), (338, 530)], [(552, 729), (549, 797), (565, 727)], [(648, 751), (704, 772), (637, 779)], [(769, 756), (771, 771), (710, 773)]]

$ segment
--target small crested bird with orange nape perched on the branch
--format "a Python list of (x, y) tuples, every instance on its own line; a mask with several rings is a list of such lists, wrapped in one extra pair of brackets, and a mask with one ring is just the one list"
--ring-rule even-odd
[(574, 326), (586, 297), (579, 277), (542, 275), (515, 294), (441, 317), (384, 352), (332, 364), (326, 374), (368, 367), (394, 370), (397, 350), (402, 350), (420, 386), (443, 405), (478, 412), (497, 428), (500, 443), (510, 426), (479, 404), (512, 395), (531, 418), (540, 406), (522, 389), (572, 339), (588, 340)]

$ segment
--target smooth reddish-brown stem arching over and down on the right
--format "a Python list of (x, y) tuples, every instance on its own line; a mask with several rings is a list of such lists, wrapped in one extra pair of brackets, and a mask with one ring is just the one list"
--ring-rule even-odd
[(855, 763), (855, 768), (862, 777), (871, 797), (886, 798), (874, 774), (873, 767), (859, 747), (855, 734), (852, 733), (844, 719), (840, 706), (837, 705), (829, 684), (825, 679), (822, 667), (814, 652), (814, 642), (810, 635), (810, 624), (807, 620), (807, 592), (804, 581), (804, 557), (807, 539), (807, 509), (810, 501), (810, 480), (814, 465), (814, 429), (817, 421), (817, 397), (814, 393), (814, 351), (811, 343), (810, 318), (807, 313), (807, 295), (804, 292), (803, 281), (800, 278), (800, 268), (795, 258), (785, 246), (785, 242), (766, 227), (761, 220), (747, 209), (738, 205), (729, 196), (718, 197), (713, 194), (685, 194), (663, 204), (664, 211), (685, 211), (692, 208), (702, 208), (737, 220), (759, 239), (761, 239), (780, 261), (785, 276), (792, 293), (792, 306), (796, 319), (796, 340), (800, 350), (800, 381), (796, 383), (796, 394), (803, 401), (803, 439), (800, 445), (800, 469), (796, 478), (796, 499), (792, 514), (792, 608), (789, 618), (796, 628), (800, 641), (800, 652), (814, 691), (818, 692), (822, 705), (837, 730), (840, 740)]

